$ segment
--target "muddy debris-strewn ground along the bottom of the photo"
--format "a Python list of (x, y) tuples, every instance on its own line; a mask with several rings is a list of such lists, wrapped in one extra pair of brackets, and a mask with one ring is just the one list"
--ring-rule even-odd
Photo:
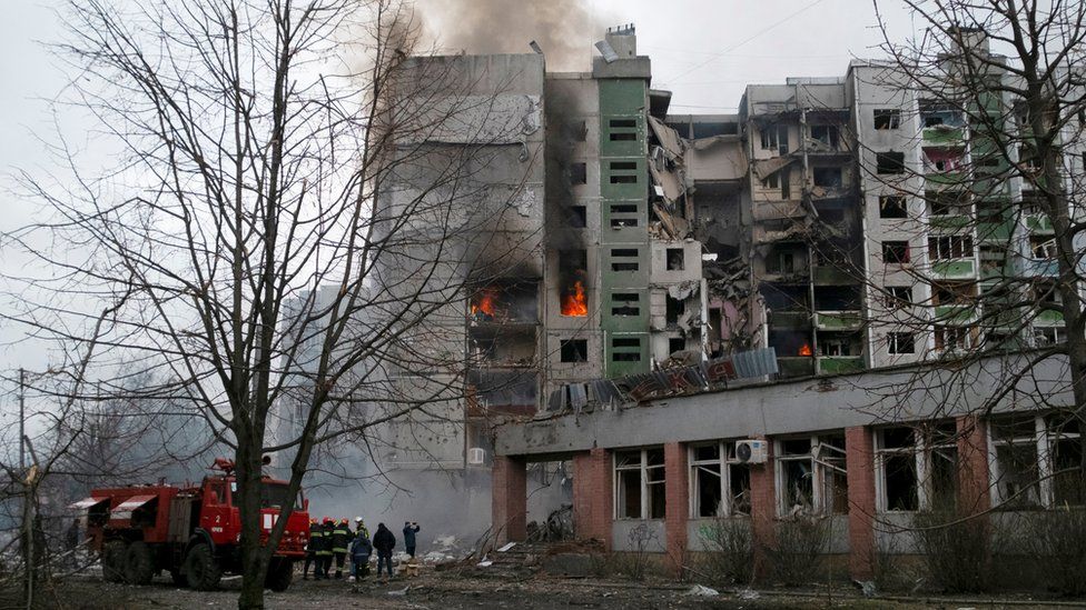
[[(223, 590), (197, 592), (178, 589), (169, 579), (156, 579), (146, 587), (101, 582), (91, 577), (73, 577), (53, 583), (41, 591), (42, 608), (62, 610), (128, 610), (208, 608), (226, 609), (237, 606), (238, 581), (227, 580)], [(949, 598), (939, 600), (863, 599), (858, 592), (840, 589), (825, 591), (763, 590), (757, 593), (721, 592), (717, 597), (690, 593), (692, 584), (669, 581), (630, 582), (598, 579), (562, 579), (536, 576), (524, 580), (480, 578), (475, 573), (428, 572), (412, 579), (394, 579), (377, 583), (373, 580), (354, 584), (344, 581), (296, 580), (282, 593), (266, 592), (273, 609), (516, 609), (555, 610), (581, 608), (665, 608), (719, 609), (807, 609), (857, 608), (911, 610), (919, 608), (1053, 608), (1075, 607), (1068, 602), (1037, 602), (1028, 598), (1003, 600)], [(753, 599), (752, 599), (753, 598)], [(7, 607), (7, 604), (3, 604)], [(1077, 607), (1086, 607), (1077, 606)]]

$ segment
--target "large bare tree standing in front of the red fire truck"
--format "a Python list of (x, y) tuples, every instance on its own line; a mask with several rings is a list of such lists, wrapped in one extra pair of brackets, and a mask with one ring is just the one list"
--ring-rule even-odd
[[(465, 298), (525, 253), (492, 230), (523, 184), (495, 189), (486, 172), (509, 150), (535, 166), (511, 134), (539, 129), (537, 108), (417, 58), (394, 0), (73, 0), (65, 19), (69, 101), (120, 162), (88, 178), (62, 140), (70, 177), (23, 177), (47, 220), (7, 238), (50, 273), (12, 279), (38, 297), (10, 319), (83, 341), (85, 303), (126, 296), (96, 397), (168, 394), (233, 449), (238, 606), (260, 608), (298, 508), (261, 546), (264, 456), (290, 456), (295, 498), (323, 443), (447, 419), (463, 397)], [(158, 381), (126, 389), (122, 360)], [(273, 438), (288, 399), (297, 426)]]

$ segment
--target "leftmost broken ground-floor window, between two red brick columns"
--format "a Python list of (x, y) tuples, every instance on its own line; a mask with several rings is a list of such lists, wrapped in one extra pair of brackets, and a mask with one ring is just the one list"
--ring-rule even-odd
[(614, 454), (614, 518), (663, 519), (667, 507), (663, 449)]

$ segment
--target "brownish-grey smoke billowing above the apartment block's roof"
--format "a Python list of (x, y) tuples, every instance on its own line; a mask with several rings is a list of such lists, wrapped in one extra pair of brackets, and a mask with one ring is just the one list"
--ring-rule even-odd
[(535, 40), (547, 71), (588, 70), (609, 19), (589, 0), (416, 0), (415, 10), (443, 53), (530, 53)]

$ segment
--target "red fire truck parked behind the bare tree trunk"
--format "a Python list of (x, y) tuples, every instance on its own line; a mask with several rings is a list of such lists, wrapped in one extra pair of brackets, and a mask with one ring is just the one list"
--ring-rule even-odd
[[(241, 520), (236, 506), (234, 462), (219, 458), (199, 486), (159, 484), (95, 489), (72, 508), (87, 510), (87, 534), (101, 553), (107, 581), (146, 584), (161, 570), (192, 589), (218, 586), (241, 567)], [(260, 539), (267, 543), (280, 510), (294, 507), (268, 567), (265, 586), (290, 586), (294, 561), (305, 557), (309, 538), (308, 502), (287, 497), (287, 482), (264, 477)]]

